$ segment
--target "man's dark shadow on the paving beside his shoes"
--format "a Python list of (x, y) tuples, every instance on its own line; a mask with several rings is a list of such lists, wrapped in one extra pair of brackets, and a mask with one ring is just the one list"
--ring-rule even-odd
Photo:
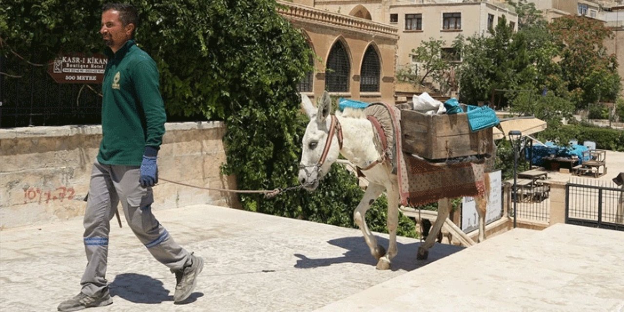
[[(173, 301), (173, 294), (163, 287), (162, 281), (155, 280), (147, 275), (124, 273), (115, 276), (109, 284), (111, 296), (119, 296), (132, 303), (158, 304), (163, 301)], [(193, 303), (203, 293), (192, 293), (187, 300), (180, 304)]]

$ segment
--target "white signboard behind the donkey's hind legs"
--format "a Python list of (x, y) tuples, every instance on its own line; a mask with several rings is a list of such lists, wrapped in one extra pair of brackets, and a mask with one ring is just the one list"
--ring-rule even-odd
[[(485, 208), (485, 224), (489, 224), (502, 217), (502, 178), (500, 170), (490, 173), (490, 198), (487, 200)], [(464, 233), (471, 232), (479, 228), (479, 214), (473, 197), (462, 198), (462, 230)]]

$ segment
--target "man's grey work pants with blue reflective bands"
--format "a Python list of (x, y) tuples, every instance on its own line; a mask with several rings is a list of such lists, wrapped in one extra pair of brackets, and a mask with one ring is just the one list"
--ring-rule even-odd
[(152, 188), (142, 187), (139, 177), (140, 168), (136, 166), (104, 165), (97, 161), (93, 165), (84, 215), (83, 236), (88, 262), (80, 280), (86, 295), (92, 296), (107, 285), (110, 220), (119, 202), (124, 207), (130, 229), (156, 260), (172, 270), (190, 262), (188, 251), (173, 241), (152, 214)]

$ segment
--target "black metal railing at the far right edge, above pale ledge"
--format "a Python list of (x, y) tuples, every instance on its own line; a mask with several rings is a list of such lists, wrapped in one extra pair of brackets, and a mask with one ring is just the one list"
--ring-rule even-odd
[(565, 223), (624, 231), (624, 188), (574, 179), (565, 188)]

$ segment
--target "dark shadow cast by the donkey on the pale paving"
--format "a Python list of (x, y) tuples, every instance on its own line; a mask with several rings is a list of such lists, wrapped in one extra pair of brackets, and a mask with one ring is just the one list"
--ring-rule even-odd
[[(377, 265), (377, 260), (371, 255), (371, 251), (368, 245), (364, 242), (364, 238), (361, 236), (336, 238), (329, 240), (330, 245), (339, 246), (346, 249), (342, 256), (335, 258), (308, 258), (300, 253), (295, 253), (295, 256), (300, 258), (295, 263), (295, 268), (317, 268), (319, 266), (330, 266), (339, 263), (362, 263), (364, 265)], [(377, 236), (377, 243), (388, 248), (388, 238)], [(409, 243), (402, 244), (397, 241), (397, 248), (399, 253), (392, 259), (392, 271), (405, 270), (412, 271), (423, 265), (431, 263), (433, 261), (444, 258), (445, 256), (452, 255), (464, 247), (444, 245), (436, 243), (429, 249), (429, 258), (427, 260), (416, 260), (416, 253), (421, 243)]]

